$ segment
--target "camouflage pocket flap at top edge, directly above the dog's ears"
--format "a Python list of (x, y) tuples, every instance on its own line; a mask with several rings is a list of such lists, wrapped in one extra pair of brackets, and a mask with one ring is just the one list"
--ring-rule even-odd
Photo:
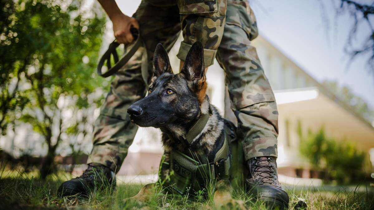
[(179, 13), (183, 15), (200, 14), (210, 16), (217, 12), (217, 0), (178, 0)]

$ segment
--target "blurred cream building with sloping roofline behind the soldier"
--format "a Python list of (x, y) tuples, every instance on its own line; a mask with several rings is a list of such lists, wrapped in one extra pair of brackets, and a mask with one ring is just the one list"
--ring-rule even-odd
[[(178, 43), (170, 52), (174, 71), (179, 70), (179, 61), (175, 58), (179, 49)], [(307, 130), (316, 132), (323, 126), (326, 135), (330, 138), (356, 142), (358, 148), (367, 152), (368, 156), (371, 153), (365, 167), (367, 171), (372, 170), (374, 149), (371, 148), (374, 148), (374, 127), (266, 39), (258, 37), (253, 44), (257, 48), (278, 104), (279, 173), (288, 177), (313, 177), (307, 161), (298, 153), (300, 142), (297, 135), (298, 122), (302, 122), (301, 128), (304, 133)], [(217, 106), (225, 117), (235, 121), (230, 109), (225, 109), (225, 103), (229, 102), (227, 97), (225, 101), (224, 72), (217, 62), (209, 67), (207, 80), (208, 95), (212, 104)], [(140, 128), (119, 175), (157, 172), (162, 152), (160, 131), (153, 128)], [(370, 163), (370, 159), (373, 163)]]

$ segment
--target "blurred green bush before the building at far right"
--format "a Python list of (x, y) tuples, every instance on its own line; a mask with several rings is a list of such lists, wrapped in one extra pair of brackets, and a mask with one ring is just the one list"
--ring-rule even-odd
[(301, 139), (300, 154), (314, 169), (324, 171), (326, 180), (347, 184), (362, 178), (365, 153), (352, 142), (327, 138), (323, 128), (316, 133), (309, 132)]

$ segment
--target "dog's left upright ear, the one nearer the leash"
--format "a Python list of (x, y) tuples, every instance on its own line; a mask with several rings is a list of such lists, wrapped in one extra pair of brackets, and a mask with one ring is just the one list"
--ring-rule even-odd
[(169, 56), (162, 44), (159, 43), (153, 55), (153, 75), (159, 77), (163, 73), (172, 73)]

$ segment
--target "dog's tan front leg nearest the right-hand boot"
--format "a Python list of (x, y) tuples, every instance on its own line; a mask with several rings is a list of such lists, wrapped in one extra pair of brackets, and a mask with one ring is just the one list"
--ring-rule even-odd
[(246, 209), (244, 202), (232, 197), (232, 186), (227, 179), (218, 180), (215, 184), (214, 206), (215, 209)]

